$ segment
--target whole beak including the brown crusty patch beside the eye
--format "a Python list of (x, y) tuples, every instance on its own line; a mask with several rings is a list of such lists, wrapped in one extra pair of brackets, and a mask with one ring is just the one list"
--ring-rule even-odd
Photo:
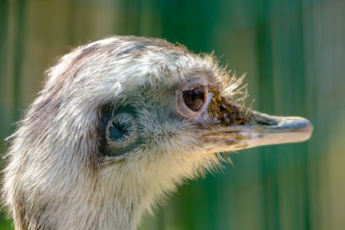
[(228, 102), (216, 91), (206, 114), (204, 143), (210, 152), (236, 151), (255, 146), (304, 142), (313, 124), (303, 117), (278, 117)]

